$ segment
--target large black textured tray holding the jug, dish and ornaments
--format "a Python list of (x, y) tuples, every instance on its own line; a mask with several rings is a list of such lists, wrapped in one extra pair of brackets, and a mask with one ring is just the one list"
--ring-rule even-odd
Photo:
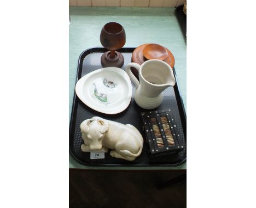
[[(135, 50), (135, 47), (124, 47), (119, 50), (124, 56), (124, 66), (122, 69), (125, 70), (125, 67), (128, 63), (131, 62), (132, 52)], [(101, 56), (107, 50), (102, 47), (89, 48), (85, 50), (79, 57), (78, 60), (78, 69), (77, 69), (77, 78), (83, 77), (91, 71), (103, 68), (101, 66)], [(176, 77), (175, 70), (173, 69), (174, 76)], [(156, 157), (150, 159), (148, 157), (148, 146), (146, 139), (142, 132), (141, 126), (141, 112), (146, 110), (140, 108), (134, 101), (133, 95), (135, 93), (135, 85), (132, 83), (132, 99), (130, 105), (125, 109), (125, 111), (115, 114), (108, 115), (103, 114), (86, 106), (82, 101), (79, 100), (77, 95), (74, 93), (73, 106), (71, 112), (71, 120), (69, 125), (69, 154), (71, 154), (76, 161), (85, 166), (123, 166), (123, 167), (152, 167), (152, 166), (164, 166), (164, 167), (173, 167), (179, 166), (184, 163), (187, 158), (187, 148), (178, 154)], [(174, 87), (167, 88), (164, 92), (164, 100), (161, 105), (152, 110), (152, 111), (162, 111), (164, 109), (171, 109), (171, 112), (177, 122), (178, 129), (182, 132), (181, 138), (184, 146), (186, 146), (186, 129), (187, 129), (187, 119), (182, 102), (182, 96), (179, 91), (177, 78), (176, 85)], [(94, 116), (101, 117), (103, 119), (117, 121), (123, 124), (132, 124), (135, 126), (141, 133), (144, 138), (143, 151), (135, 161), (125, 161), (118, 158), (114, 158), (109, 155), (109, 152), (105, 153), (104, 159), (90, 159), (90, 152), (82, 152), (80, 146), (83, 144), (83, 139), (80, 132), (80, 124), (82, 121)]]

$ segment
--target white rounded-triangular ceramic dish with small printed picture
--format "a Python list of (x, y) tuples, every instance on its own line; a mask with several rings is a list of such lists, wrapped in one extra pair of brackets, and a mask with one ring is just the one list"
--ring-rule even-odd
[(86, 106), (95, 111), (117, 114), (129, 106), (132, 86), (123, 69), (107, 67), (80, 78), (75, 85), (75, 93)]

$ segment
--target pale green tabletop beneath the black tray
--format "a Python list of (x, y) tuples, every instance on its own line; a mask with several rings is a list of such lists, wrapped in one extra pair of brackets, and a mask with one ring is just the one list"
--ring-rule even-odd
[[(100, 32), (107, 22), (118, 22), (126, 32), (124, 47), (156, 43), (168, 48), (175, 58), (177, 81), (186, 108), (187, 46), (175, 16), (175, 8), (69, 7), (69, 119), (80, 54), (91, 47), (102, 47)], [(177, 167), (89, 167), (69, 155), (69, 168), (78, 169), (186, 169)]]

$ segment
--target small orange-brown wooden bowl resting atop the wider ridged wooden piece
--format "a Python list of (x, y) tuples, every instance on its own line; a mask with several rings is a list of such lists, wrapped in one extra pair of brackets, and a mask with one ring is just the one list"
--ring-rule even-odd
[(142, 53), (144, 57), (147, 59), (158, 59), (158, 60), (165, 60), (168, 56), (166, 49), (158, 44), (148, 44), (146, 45)]

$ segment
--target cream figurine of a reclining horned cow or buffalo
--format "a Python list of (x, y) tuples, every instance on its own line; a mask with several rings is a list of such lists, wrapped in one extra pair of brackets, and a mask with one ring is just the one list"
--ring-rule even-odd
[(110, 156), (133, 161), (141, 155), (143, 137), (136, 127), (115, 121), (92, 117), (80, 124), (83, 152), (108, 152)]

